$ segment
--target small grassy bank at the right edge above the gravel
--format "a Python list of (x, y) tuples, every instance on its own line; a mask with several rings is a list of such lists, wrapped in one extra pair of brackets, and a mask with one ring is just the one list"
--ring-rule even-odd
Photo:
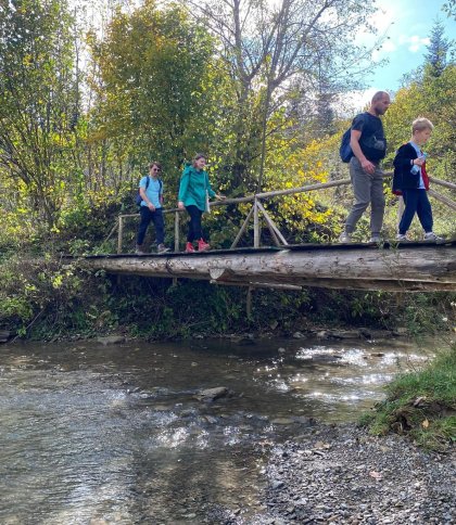
[(456, 444), (456, 344), (422, 370), (397, 376), (387, 390), (387, 399), (363, 418), (371, 434), (407, 434), (440, 451)]

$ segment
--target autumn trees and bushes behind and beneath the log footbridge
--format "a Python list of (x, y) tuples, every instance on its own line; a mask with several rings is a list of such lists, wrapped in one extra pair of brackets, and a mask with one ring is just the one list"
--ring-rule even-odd
[[(197, 152), (208, 156), (213, 187), (230, 197), (346, 178), (338, 149), (354, 115), (344, 101), (363, 89), (372, 51), (382, 46), (380, 37), (372, 49), (356, 38), (375, 33), (368, 22), (375, 5), (0, 0), (0, 329), (49, 340), (338, 322), (406, 324), (416, 333), (447, 326), (454, 294), (266, 290), (255, 292), (246, 319), (244, 290), (145, 278), (117, 282), (59, 255), (115, 252), (110, 233), (119, 214), (137, 212), (134, 196), (150, 161), (163, 165), (167, 207), (176, 205), (182, 165)], [(453, 0), (442, 9), (456, 18)], [(404, 71), (384, 116), (385, 168), (409, 139), (410, 123), (426, 116), (435, 125), (430, 171), (454, 181), (454, 46), (439, 21), (429, 37), (422, 66)], [(385, 194), (385, 234), (393, 236), (397, 201), (388, 183)], [(290, 243), (331, 242), (352, 199), (346, 188), (265, 206)], [(453, 235), (455, 218), (439, 203), (433, 207), (435, 231)], [(246, 213), (243, 206), (216, 208), (205, 219), (211, 243), (228, 247)], [(131, 220), (125, 232), (130, 252), (136, 227)], [(420, 234), (417, 225), (411, 233)], [(357, 234), (367, 238), (368, 217)], [(244, 245), (252, 245), (251, 235)], [(168, 244), (173, 236), (168, 220)]]

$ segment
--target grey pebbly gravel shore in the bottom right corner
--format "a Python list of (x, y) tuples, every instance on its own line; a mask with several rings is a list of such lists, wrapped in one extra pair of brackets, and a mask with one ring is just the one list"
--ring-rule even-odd
[(429, 453), (402, 436), (318, 426), (274, 449), (265, 512), (249, 523), (455, 523), (455, 473), (454, 450)]

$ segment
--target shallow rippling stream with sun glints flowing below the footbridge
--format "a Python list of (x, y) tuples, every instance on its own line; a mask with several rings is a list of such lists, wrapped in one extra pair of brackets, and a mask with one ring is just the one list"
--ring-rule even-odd
[(241, 343), (0, 346), (0, 523), (252, 523), (271, 445), (356, 420), (433, 351)]

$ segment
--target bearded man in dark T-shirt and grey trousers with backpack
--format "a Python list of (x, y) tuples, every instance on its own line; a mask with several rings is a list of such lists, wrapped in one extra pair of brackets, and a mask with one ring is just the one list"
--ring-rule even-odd
[(370, 242), (380, 242), (383, 225), (384, 195), (383, 171), (380, 161), (387, 154), (387, 139), (380, 115), (384, 115), (391, 104), (385, 91), (378, 91), (370, 102), (369, 110), (357, 115), (350, 132), (351, 155), (343, 154), (344, 162), (350, 158), (350, 178), (352, 179), (355, 203), (345, 221), (344, 231), (339, 238), (341, 243), (352, 242), (352, 233), (357, 221), (370, 204)]

